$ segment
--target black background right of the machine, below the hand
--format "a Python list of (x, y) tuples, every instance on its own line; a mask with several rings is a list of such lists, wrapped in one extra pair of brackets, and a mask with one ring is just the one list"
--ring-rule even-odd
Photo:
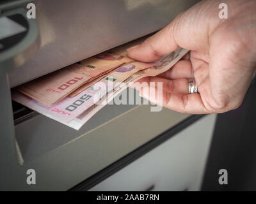
[[(220, 169), (228, 171), (227, 185), (218, 183)], [(218, 114), (202, 191), (256, 191), (255, 78), (239, 108)]]

